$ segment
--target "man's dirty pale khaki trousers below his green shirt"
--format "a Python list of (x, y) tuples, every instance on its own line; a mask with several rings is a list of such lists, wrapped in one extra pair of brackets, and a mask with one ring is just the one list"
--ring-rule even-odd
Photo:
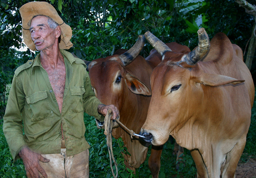
[[(50, 160), (48, 163), (39, 161), (48, 178), (89, 178), (89, 150), (79, 154), (66, 156), (66, 149), (61, 148), (60, 154), (42, 155)], [(40, 178), (43, 178), (39, 173)]]

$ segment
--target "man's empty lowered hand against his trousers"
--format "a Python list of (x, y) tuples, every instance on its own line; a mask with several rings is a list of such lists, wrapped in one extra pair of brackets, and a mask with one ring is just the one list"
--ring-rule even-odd
[(42, 157), (40, 154), (31, 151), (28, 147), (23, 148), (19, 152), (19, 157), (23, 160), (28, 178), (40, 178), (38, 171), (44, 178), (47, 178), (47, 174), (39, 164), (39, 161), (48, 163), (50, 160)]

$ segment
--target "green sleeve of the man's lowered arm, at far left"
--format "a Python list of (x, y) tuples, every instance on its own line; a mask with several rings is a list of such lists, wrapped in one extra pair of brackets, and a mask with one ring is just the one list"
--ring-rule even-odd
[(14, 160), (19, 158), (19, 152), (26, 146), (26, 142), (23, 139), (21, 117), (24, 104), (25, 94), (17, 76), (14, 75), (5, 109), (5, 116), (3, 118), (3, 132)]

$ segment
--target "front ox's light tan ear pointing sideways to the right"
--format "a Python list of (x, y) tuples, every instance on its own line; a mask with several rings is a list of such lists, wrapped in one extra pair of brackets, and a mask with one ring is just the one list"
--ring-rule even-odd
[(209, 73), (201, 73), (199, 77), (200, 83), (209, 86), (220, 86), (225, 84), (237, 84), (244, 82), (245, 80), (238, 80), (236, 78), (228, 77), (225, 75), (217, 75), (217, 74), (209, 74)]

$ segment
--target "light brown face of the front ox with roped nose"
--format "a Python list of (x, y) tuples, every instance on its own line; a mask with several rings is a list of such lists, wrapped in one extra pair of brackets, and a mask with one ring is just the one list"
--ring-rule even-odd
[[(190, 70), (178, 65), (161, 63), (151, 75), (152, 97), (147, 119), (141, 134), (149, 133), (145, 140), (153, 145), (163, 145), (169, 135), (177, 132), (190, 118), (191, 92), (199, 83), (191, 80)], [(151, 135), (152, 134), (152, 135)], [(153, 137), (152, 137), (153, 136)]]

